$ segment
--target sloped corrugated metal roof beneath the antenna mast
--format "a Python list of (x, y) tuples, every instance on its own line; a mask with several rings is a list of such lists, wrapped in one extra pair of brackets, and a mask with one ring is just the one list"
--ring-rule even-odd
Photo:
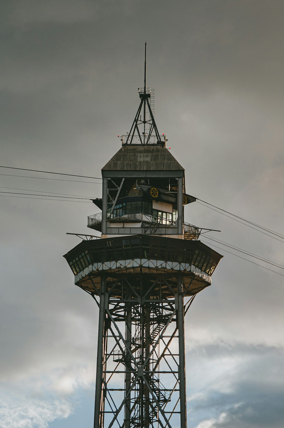
[(184, 171), (184, 168), (166, 147), (141, 144), (122, 146), (102, 170)]

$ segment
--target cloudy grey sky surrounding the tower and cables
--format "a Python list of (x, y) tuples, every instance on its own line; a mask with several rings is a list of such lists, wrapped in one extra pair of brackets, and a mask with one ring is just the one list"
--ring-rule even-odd
[[(186, 192), (284, 233), (283, 1), (0, 8), (2, 166), (100, 178), (138, 108), (147, 40), (155, 119)], [(92, 427), (98, 311), (62, 255), (80, 242), (66, 232), (90, 233), (98, 209), (3, 192), (95, 198), (101, 180), (0, 174), (0, 427)], [(187, 205), (185, 221), (283, 264), (283, 240), (208, 206)], [(283, 428), (284, 270), (221, 248), (212, 285), (186, 315), (188, 428)]]

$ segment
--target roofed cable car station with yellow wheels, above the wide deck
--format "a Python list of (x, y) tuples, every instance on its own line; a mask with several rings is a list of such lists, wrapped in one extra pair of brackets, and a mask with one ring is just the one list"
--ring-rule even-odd
[(154, 234), (183, 237), (184, 169), (165, 146), (125, 145), (102, 169), (103, 197), (93, 202), (102, 212), (88, 227), (102, 238)]

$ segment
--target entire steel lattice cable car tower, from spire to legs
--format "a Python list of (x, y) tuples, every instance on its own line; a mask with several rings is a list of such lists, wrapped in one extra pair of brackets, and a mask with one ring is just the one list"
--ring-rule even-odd
[(146, 44), (144, 76), (88, 217), (101, 239), (85, 235), (64, 256), (99, 307), (94, 428), (186, 428), (184, 316), (222, 258), (198, 240), (208, 229), (184, 222), (195, 198), (157, 129)]

